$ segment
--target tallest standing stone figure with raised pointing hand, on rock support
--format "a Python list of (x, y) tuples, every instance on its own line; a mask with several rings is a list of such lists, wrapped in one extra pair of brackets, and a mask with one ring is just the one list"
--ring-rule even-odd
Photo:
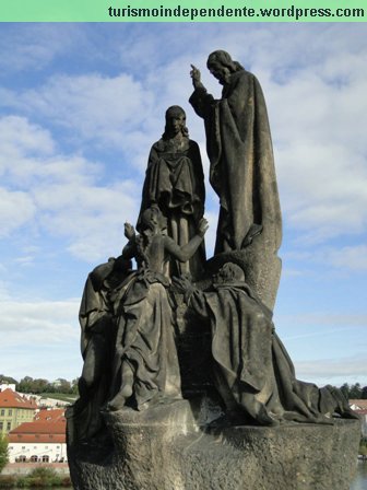
[(227, 52), (212, 52), (208, 68), (223, 85), (222, 98), (206, 92), (192, 67), (190, 103), (204, 119), (210, 183), (221, 202), (215, 254), (242, 250), (249, 283), (273, 308), (282, 217), (264, 96), (257, 78)]

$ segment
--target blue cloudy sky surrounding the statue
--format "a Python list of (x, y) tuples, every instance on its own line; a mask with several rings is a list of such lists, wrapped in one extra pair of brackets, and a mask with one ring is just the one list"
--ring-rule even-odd
[[(80, 375), (87, 272), (125, 244), (165, 109), (225, 49), (268, 103), (284, 220), (279, 335), (300, 380), (367, 384), (367, 25), (0, 24), (0, 373)], [(218, 200), (206, 185), (213, 247)]]

